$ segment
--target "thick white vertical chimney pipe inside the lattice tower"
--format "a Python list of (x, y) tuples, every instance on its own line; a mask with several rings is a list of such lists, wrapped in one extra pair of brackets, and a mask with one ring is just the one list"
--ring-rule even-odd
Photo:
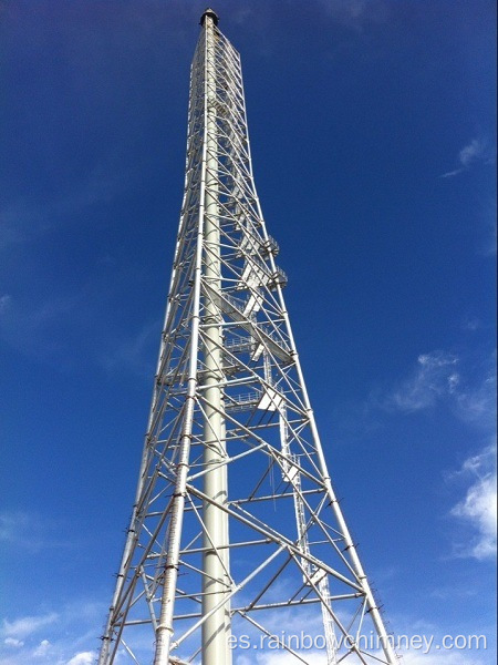
[[(216, 301), (221, 290), (219, 187), (218, 187), (218, 124), (216, 99), (216, 40), (211, 17), (205, 19), (206, 31), (206, 208), (204, 274), (215, 298), (205, 298), (204, 356), (206, 396), (204, 422), (204, 492), (217, 502), (228, 501), (227, 451), (224, 418), (224, 354), (221, 316)], [(211, 470), (209, 470), (211, 469)], [(203, 665), (231, 665), (230, 603), (225, 598), (231, 591), (228, 545), (228, 515), (216, 503), (204, 502), (205, 531), (203, 562)], [(220, 605), (221, 603), (221, 605)], [(216, 608), (216, 610), (215, 610)]]

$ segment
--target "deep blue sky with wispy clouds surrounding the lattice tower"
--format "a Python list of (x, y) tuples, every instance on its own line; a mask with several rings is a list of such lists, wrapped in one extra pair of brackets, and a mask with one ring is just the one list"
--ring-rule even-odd
[[(205, 4), (1, 7), (2, 665), (84, 665), (98, 647), (138, 472)], [(486, 652), (404, 662), (490, 665), (495, 3), (215, 9), (242, 55), (298, 348), (386, 617), (396, 633), (488, 636)]]

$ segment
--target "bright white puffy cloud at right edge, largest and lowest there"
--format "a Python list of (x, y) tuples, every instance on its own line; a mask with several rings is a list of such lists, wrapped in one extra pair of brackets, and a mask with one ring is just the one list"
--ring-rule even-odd
[(458, 475), (471, 478), (465, 498), (452, 515), (467, 523), (474, 536), (457, 548), (457, 555), (478, 560), (492, 559), (497, 552), (497, 471), (496, 446), (468, 458)]

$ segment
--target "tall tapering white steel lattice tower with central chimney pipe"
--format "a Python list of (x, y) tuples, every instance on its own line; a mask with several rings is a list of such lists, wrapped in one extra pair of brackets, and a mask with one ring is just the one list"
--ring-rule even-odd
[[(286, 663), (393, 665), (256, 193), (240, 57), (212, 10), (201, 25), (166, 319), (100, 665), (257, 662), (255, 645), (286, 649)], [(286, 637), (301, 630), (322, 651)]]

